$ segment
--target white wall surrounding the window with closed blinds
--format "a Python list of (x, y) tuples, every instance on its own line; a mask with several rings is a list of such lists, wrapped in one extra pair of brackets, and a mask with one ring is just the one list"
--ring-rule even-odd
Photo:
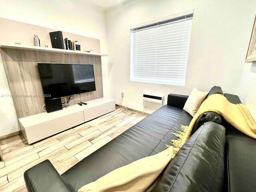
[[(144, 92), (190, 94), (214, 85), (238, 94), (255, 0), (130, 0), (106, 12), (110, 98), (143, 110)], [(130, 81), (130, 26), (194, 9), (185, 86)], [(252, 18), (250, 20), (249, 18)]]

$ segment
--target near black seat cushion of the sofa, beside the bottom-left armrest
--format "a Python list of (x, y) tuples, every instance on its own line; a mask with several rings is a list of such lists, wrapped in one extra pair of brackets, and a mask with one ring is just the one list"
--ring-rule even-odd
[(62, 174), (72, 192), (109, 172), (147, 157), (152, 150), (120, 135)]

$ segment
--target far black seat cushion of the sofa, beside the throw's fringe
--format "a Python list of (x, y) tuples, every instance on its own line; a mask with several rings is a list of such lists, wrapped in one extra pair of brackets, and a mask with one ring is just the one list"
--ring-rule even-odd
[[(187, 115), (187, 112), (181, 108), (165, 105), (132, 126), (123, 134), (147, 148), (154, 150), (166, 134), (177, 125), (177, 122), (185, 113)], [(191, 119), (189, 118), (190, 121)], [(183, 124), (182, 121), (180, 121), (180, 123)]]

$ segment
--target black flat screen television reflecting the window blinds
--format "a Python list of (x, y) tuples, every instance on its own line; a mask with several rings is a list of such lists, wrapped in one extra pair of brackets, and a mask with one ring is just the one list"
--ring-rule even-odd
[(45, 99), (95, 91), (93, 65), (38, 63)]

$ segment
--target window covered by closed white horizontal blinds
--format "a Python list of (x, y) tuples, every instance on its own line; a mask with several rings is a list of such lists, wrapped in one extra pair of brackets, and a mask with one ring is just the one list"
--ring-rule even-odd
[(192, 18), (131, 29), (131, 81), (185, 85)]

